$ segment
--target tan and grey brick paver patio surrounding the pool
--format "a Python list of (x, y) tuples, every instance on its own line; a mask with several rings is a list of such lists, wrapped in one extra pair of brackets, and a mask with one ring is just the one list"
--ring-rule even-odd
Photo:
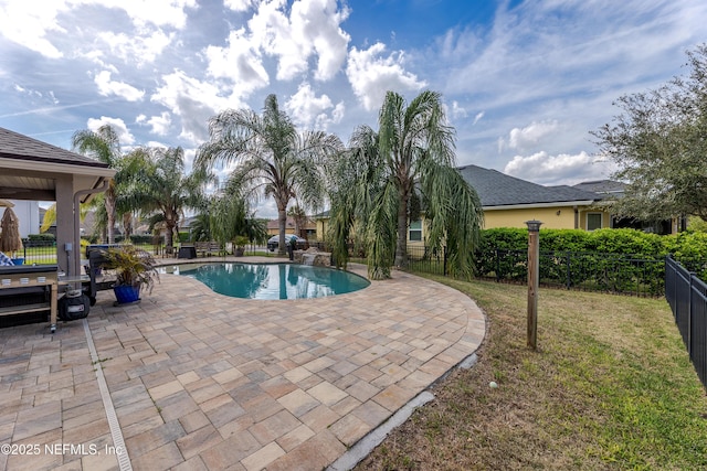
[(55, 334), (0, 329), (1, 469), (319, 470), (485, 333), (466, 296), (400, 271), (287, 301), (162, 275), (141, 303), (113, 301), (99, 292), (86, 320)]

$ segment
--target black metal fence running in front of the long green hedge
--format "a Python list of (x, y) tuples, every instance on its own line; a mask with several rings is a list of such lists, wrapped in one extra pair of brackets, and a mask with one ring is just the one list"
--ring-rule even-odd
[[(408, 247), (411, 270), (447, 275), (443, 249)], [(654, 297), (664, 293), (665, 260), (600, 253), (540, 253), (540, 283), (548, 287)], [(528, 250), (495, 249), (476, 254), (476, 277), (527, 282)]]

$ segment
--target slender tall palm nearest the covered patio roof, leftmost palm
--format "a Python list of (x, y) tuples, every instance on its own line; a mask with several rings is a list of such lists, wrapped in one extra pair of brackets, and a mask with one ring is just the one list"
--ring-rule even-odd
[[(76, 131), (72, 136), (71, 142), (74, 151), (107, 163), (110, 168), (115, 169), (120, 161), (120, 141), (110, 125), (103, 125), (96, 131), (89, 129)], [(104, 204), (108, 218), (108, 244), (115, 242), (116, 181), (116, 178), (110, 180), (108, 189), (104, 192)]]

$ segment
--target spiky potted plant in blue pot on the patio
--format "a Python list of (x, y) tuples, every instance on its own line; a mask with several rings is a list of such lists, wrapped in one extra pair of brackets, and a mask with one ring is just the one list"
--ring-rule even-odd
[(116, 275), (113, 291), (118, 304), (138, 301), (140, 290), (152, 292), (155, 281), (159, 281), (155, 258), (146, 250), (125, 245), (108, 248), (105, 257), (105, 268), (114, 270)]

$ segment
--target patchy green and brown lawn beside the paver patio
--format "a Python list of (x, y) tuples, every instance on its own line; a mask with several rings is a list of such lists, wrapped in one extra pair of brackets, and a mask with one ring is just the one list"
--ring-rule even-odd
[(478, 362), (357, 469), (707, 469), (707, 398), (664, 299), (541, 289), (532, 352), (527, 288), (429, 278), (486, 313)]

